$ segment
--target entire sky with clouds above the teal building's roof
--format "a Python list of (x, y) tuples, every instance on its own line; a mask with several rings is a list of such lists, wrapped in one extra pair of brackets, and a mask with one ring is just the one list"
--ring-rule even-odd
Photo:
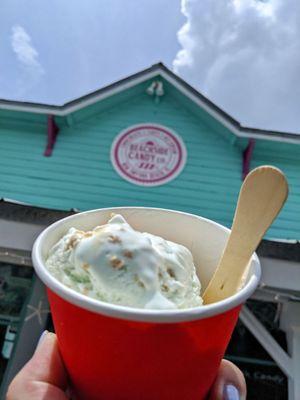
[(242, 125), (300, 133), (299, 0), (1, 0), (0, 98), (63, 104), (162, 61)]

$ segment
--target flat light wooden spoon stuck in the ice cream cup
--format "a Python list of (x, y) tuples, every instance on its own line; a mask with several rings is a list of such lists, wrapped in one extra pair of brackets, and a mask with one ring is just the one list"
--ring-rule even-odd
[(244, 283), (250, 258), (288, 195), (284, 174), (262, 166), (251, 171), (240, 190), (231, 234), (204, 294), (204, 304), (236, 293)]

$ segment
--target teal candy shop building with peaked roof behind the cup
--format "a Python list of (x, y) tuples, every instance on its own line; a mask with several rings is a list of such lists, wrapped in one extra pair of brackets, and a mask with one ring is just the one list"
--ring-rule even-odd
[[(162, 64), (64, 106), (0, 102), (1, 282), (8, 287), (17, 275), (14, 284), (24, 289), (18, 301), (26, 303), (21, 316), (1, 317), (12, 330), (2, 333), (6, 348), (14, 342), (7, 355), (15, 358), (3, 387), (47, 324), (44, 290), (30, 269), (43, 227), (77, 210), (124, 205), (182, 210), (230, 227), (243, 176), (272, 164), (286, 173), (290, 196), (261, 245), (263, 283), (255, 297), (283, 304), (289, 355), (248, 309), (241, 319), (289, 377), (289, 398), (296, 399), (299, 144), (295, 134), (242, 127)], [(30, 290), (22, 279), (33, 282)]]

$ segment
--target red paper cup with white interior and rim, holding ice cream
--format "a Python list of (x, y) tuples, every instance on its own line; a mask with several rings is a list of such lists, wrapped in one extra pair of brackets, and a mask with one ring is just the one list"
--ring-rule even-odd
[(49, 249), (75, 227), (90, 230), (120, 213), (133, 228), (183, 244), (193, 254), (202, 287), (209, 282), (229, 230), (177, 211), (114, 208), (64, 218), (44, 230), (33, 264), (45, 283), (60, 351), (80, 400), (201, 400), (215, 379), (241, 305), (260, 278), (253, 255), (244, 287), (215, 304), (184, 310), (144, 310), (94, 300), (69, 289), (45, 268)]

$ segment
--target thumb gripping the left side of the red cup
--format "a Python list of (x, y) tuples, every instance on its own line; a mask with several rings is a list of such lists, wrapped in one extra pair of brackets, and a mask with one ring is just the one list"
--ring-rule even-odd
[(7, 400), (67, 400), (67, 373), (56, 335), (45, 332), (33, 357), (11, 382)]

